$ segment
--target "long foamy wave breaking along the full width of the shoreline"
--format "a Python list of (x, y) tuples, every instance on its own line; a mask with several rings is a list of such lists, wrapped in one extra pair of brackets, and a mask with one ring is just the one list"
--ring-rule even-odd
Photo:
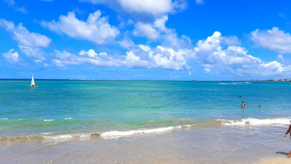
[[(71, 119), (71, 118), (68, 118)], [(185, 124), (179, 126), (168, 126), (159, 128), (148, 128), (148, 129), (136, 129), (136, 130), (112, 130), (106, 132), (89, 132), (89, 133), (72, 133), (72, 134), (61, 134), (61, 132), (41, 132), (36, 135), (16, 135), (16, 136), (0, 136), (0, 141), (7, 142), (10, 140), (15, 141), (26, 141), (31, 139), (97, 139), (97, 138), (107, 138), (107, 137), (122, 137), (130, 136), (142, 133), (155, 133), (155, 132), (165, 132), (177, 129), (200, 129), (200, 128), (219, 128), (229, 125), (286, 125), (290, 124), (291, 118), (244, 118), (240, 120), (225, 120), (218, 119), (216, 121), (196, 123), (196, 124)], [(55, 119), (43, 120), (43, 121), (54, 121)]]

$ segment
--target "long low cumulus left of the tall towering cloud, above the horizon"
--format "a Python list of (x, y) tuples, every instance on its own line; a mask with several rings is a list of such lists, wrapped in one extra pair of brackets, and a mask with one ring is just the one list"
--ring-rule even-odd
[[(138, 54), (138, 55), (137, 55)], [(147, 45), (138, 45), (135, 49), (127, 51), (126, 55), (108, 55), (107, 53), (96, 53), (95, 50), (81, 50), (78, 55), (73, 55), (66, 51), (55, 50), (54, 63), (59, 67), (70, 64), (91, 63), (104, 67), (145, 67), (145, 68), (165, 68), (173, 70), (183, 70), (191, 68), (187, 66), (186, 55), (189, 50), (175, 51), (171, 48), (157, 46), (153, 50)]]

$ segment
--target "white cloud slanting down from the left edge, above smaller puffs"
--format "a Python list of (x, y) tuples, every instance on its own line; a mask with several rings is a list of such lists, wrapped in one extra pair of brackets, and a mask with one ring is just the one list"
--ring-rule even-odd
[(14, 22), (0, 19), (0, 27), (4, 27), (7, 31), (13, 34), (13, 38), (20, 44), (30, 47), (47, 47), (52, 39), (49, 39), (45, 35), (41, 35), (35, 32), (29, 32), (22, 23), (19, 23), (16, 27)]

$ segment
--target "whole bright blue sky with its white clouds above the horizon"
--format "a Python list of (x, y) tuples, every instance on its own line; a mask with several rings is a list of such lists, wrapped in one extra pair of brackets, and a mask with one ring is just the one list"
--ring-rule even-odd
[(0, 4), (0, 78), (291, 78), (290, 1)]

